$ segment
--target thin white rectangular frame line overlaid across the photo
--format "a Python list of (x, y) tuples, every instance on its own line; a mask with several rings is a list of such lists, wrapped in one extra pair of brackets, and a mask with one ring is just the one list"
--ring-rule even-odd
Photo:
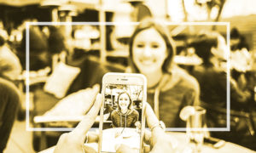
[[(227, 48), (230, 46), (230, 22), (162, 22), (166, 26), (226, 26)], [(29, 71), (29, 27), (30, 26), (137, 26), (139, 22), (26, 22), (26, 71)], [(204, 131), (230, 131), (230, 49), (227, 54), (227, 124), (226, 127), (208, 127)], [(68, 127), (30, 127), (29, 123), (29, 73), (26, 73), (26, 131), (72, 131)], [(98, 128), (91, 128), (95, 131)], [(201, 130), (201, 128), (193, 128)], [(166, 131), (185, 132), (186, 127), (166, 128)]]

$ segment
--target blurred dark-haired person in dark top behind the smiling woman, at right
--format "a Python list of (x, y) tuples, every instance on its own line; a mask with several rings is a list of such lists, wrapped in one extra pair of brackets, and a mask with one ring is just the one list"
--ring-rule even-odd
[[(220, 61), (224, 60), (223, 56), (218, 56), (224, 48), (218, 45), (218, 42), (224, 42), (224, 38), (217, 32), (202, 32), (195, 36), (189, 47), (195, 49), (202, 59), (202, 64), (194, 67), (192, 75), (198, 80), (201, 86), (201, 100), (203, 102), (226, 106), (226, 71), (225, 67), (220, 65)], [(221, 48), (218, 50), (218, 48)]]

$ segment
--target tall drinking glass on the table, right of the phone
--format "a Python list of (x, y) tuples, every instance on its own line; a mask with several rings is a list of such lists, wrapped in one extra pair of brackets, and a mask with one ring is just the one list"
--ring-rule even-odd
[(195, 113), (187, 120), (187, 137), (193, 152), (201, 152), (206, 131), (206, 110), (201, 106), (194, 106)]

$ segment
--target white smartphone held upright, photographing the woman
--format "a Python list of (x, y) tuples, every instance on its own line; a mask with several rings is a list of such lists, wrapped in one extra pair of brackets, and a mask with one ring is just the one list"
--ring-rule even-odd
[(143, 152), (146, 77), (107, 73), (102, 79), (102, 99), (98, 152), (116, 152), (119, 144)]

